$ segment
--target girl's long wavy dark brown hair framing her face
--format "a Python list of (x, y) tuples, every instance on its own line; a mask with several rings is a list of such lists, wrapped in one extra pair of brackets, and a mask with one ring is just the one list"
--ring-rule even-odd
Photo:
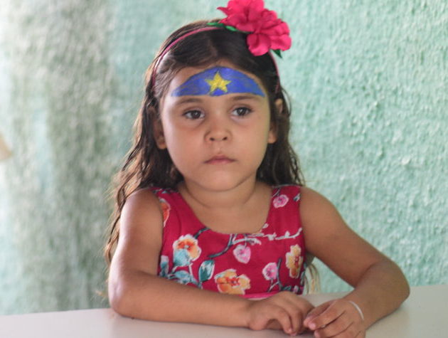
[[(137, 189), (149, 186), (175, 189), (183, 179), (174, 167), (166, 149), (156, 147), (154, 122), (159, 119), (159, 102), (169, 83), (182, 68), (207, 66), (218, 60), (228, 60), (235, 67), (257, 76), (264, 85), (270, 102), (271, 122), (277, 133), (277, 141), (268, 144), (265, 157), (257, 170), (257, 179), (270, 185), (298, 184), (304, 179), (297, 155), (289, 144), (289, 101), (279, 84), (277, 68), (272, 56), (253, 56), (247, 48), (246, 34), (215, 29), (201, 31), (178, 41), (164, 54), (177, 38), (199, 28), (208, 22), (190, 23), (171, 34), (161, 46), (153, 62), (146, 70), (145, 96), (134, 125), (134, 144), (127, 154), (124, 166), (116, 176), (114, 189), (115, 208), (110, 225), (110, 236), (105, 246), (105, 258), (112, 259), (119, 238), (119, 219), (127, 198)], [(154, 73), (154, 74), (153, 74)], [(283, 100), (283, 109), (277, 112), (275, 100)]]

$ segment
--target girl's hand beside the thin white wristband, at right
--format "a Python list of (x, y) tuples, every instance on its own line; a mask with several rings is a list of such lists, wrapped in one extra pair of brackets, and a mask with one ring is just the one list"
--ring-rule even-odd
[(363, 317), (348, 300), (330, 300), (315, 307), (304, 320), (314, 337), (366, 337)]

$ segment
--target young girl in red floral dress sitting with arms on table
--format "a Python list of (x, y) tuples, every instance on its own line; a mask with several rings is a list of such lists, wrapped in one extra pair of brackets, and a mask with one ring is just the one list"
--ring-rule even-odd
[[(171, 34), (146, 73), (106, 247), (110, 303), (142, 319), (364, 337), (407, 282), (304, 186), (269, 51), (289, 48), (286, 23), (261, 0), (220, 9), (226, 19)], [(313, 308), (299, 296), (311, 256), (354, 290)]]

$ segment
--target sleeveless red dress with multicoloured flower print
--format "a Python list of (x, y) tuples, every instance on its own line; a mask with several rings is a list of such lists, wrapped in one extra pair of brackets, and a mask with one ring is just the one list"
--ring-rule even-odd
[(164, 216), (158, 275), (243, 297), (304, 287), (305, 243), (300, 187), (276, 186), (257, 233), (218, 233), (205, 226), (178, 191), (152, 188)]

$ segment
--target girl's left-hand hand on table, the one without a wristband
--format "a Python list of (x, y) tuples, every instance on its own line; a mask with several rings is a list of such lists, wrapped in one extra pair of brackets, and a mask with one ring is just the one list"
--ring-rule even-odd
[(303, 321), (313, 308), (310, 302), (292, 292), (279, 292), (264, 300), (253, 300), (247, 309), (250, 329), (283, 329), (295, 335), (304, 332)]

